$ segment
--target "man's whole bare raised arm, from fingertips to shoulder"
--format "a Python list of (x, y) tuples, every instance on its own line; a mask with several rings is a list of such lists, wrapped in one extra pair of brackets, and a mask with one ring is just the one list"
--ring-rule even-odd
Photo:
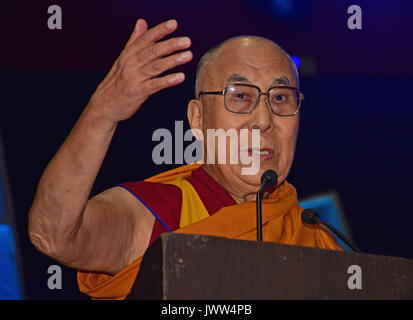
[(76, 268), (108, 272), (143, 254), (153, 225), (150, 219), (142, 222), (148, 219), (146, 207), (136, 205), (122, 188), (99, 201), (88, 200), (117, 123), (132, 117), (154, 93), (184, 81), (183, 73), (162, 75), (192, 59), (190, 51), (179, 52), (190, 46), (189, 38), (159, 41), (176, 28), (175, 20), (149, 30), (146, 21), (137, 21), (124, 50), (47, 166), (29, 213), (30, 239), (43, 253)]

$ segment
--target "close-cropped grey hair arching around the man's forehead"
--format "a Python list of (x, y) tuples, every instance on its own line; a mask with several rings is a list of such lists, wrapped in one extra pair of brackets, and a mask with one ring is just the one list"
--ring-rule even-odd
[[(286, 62), (291, 68), (291, 74), (293, 81), (295, 82), (295, 86), (298, 88), (299, 77), (297, 67), (290, 55), (277, 43), (267, 38), (258, 36), (235, 36), (214, 46), (201, 57), (196, 71), (195, 98), (198, 97), (198, 93), (200, 91), (206, 89), (204, 88), (205, 82), (207, 82), (208, 77), (213, 73), (213, 71), (215, 71), (214, 67), (216, 67), (217, 59), (219, 59), (222, 54), (231, 54), (234, 50), (245, 50), (248, 48), (254, 50), (257, 46), (263, 49), (273, 49), (274, 55), (280, 55), (286, 59)], [(216, 88), (213, 90), (215, 89)]]

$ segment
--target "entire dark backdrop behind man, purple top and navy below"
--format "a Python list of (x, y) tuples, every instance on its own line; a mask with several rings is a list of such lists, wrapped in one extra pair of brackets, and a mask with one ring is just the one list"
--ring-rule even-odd
[[(47, 28), (52, 4), (62, 7), (62, 30)], [(137, 18), (147, 19), (150, 26), (176, 18), (175, 34), (192, 38), (194, 61), (179, 68), (187, 74), (184, 84), (151, 97), (119, 126), (93, 194), (169, 169), (153, 164), (151, 151), (157, 143), (151, 136), (157, 128), (172, 129), (175, 120), (186, 120), (200, 56), (229, 36), (256, 34), (315, 63), (314, 71), (301, 79), (306, 100), (289, 177), (299, 196), (336, 190), (362, 251), (413, 258), (413, 3), (309, 4), (308, 15), (299, 21), (271, 18), (249, 1), (2, 5), (0, 128), (27, 298), (84, 298), (69, 268), (63, 269), (62, 290), (47, 289), (47, 267), (55, 262), (28, 241), (27, 212), (42, 171), (122, 50)], [(362, 30), (347, 28), (351, 4), (363, 10)]]

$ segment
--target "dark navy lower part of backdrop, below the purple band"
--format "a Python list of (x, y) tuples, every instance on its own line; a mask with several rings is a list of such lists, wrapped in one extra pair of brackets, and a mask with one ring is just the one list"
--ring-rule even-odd
[[(1, 108), (11, 195), (15, 207), (27, 295), (79, 297), (75, 273), (63, 269), (63, 289), (47, 287), (54, 261), (27, 236), (27, 214), (48, 161), (70, 132), (104, 74), (3, 70)], [(119, 182), (172, 168), (152, 161), (158, 128), (185, 120), (194, 77), (150, 98), (118, 127), (93, 194)], [(335, 191), (362, 251), (413, 258), (410, 197), (412, 78), (303, 78), (306, 95), (296, 158), (289, 181), (300, 198)]]

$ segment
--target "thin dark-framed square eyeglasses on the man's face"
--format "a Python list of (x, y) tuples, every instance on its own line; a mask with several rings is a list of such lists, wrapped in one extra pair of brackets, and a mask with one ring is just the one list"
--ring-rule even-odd
[[(250, 109), (249, 111), (247, 111), (247, 112), (236, 112), (236, 111), (231, 111), (231, 110), (228, 109), (228, 107), (227, 107), (227, 101), (226, 101), (227, 99), (226, 99), (225, 94), (226, 94), (227, 91), (228, 91), (228, 87), (229, 87), (229, 86), (232, 86), (232, 85), (242, 85), (242, 86), (247, 86), (247, 87), (256, 88), (256, 89), (258, 90), (258, 98), (257, 98), (257, 101), (255, 102), (254, 106), (251, 107), (251, 109)], [(297, 90), (298, 94), (300, 95), (300, 103), (299, 103), (299, 105), (297, 106), (297, 110), (296, 110), (294, 113), (292, 113), (292, 114), (278, 114), (278, 113), (276, 113), (276, 112), (271, 108), (271, 103), (269, 102), (270, 91), (271, 91), (272, 89), (276, 89), (276, 88), (287, 88), (287, 89), (295, 89), (295, 90)], [(270, 110), (271, 110), (272, 113), (274, 113), (275, 115), (280, 116), (280, 117), (291, 117), (291, 116), (297, 115), (297, 114), (299, 113), (299, 111), (300, 111), (301, 103), (302, 103), (302, 101), (304, 100), (304, 94), (303, 94), (298, 88), (296, 88), (296, 87), (292, 87), (292, 86), (273, 86), (273, 87), (269, 88), (267, 92), (262, 92), (260, 87), (254, 85), (254, 84), (249, 84), (249, 83), (230, 83), (230, 84), (228, 84), (228, 85), (224, 88), (224, 90), (222, 90), (222, 91), (200, 91), (200, 92), (198, 93), (198, 98), (197, 98), (197, 100), (199, 100), (199, 97), (200, 97), (201, 95), (206, 95), (206, 94), (211, 94), (211, 95), (212, 95), (212, 94), (218, 94), (218, 95), (224, 96), (224, 107), (225, 107), (225, 109), (226, 109), (228, 112), (235, 113), (235, 114), (250, 114), (250, 113), (253, 112), (253, 111), (255, 110), (255, 108), (257, 107), (257, 105), (258, 105), (258, 103), (259, 103), (259, 101), (260, 101), (261, 96), (267, 96), (267, 98), (265, 99), (265, 102), (266, 102), (267, 106), (270, 108)]]

